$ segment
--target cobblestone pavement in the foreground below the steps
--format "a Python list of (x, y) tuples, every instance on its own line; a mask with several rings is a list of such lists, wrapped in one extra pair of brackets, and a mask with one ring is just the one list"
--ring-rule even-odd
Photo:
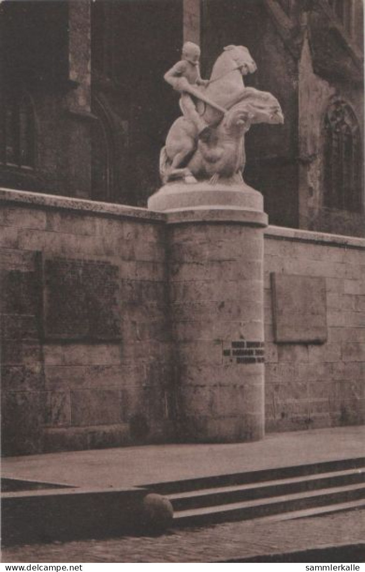
[(3, 550), (3, 562), (216, 562), (365, 541), (365, 510), (291, 521), (246, 521), (123, 537)]

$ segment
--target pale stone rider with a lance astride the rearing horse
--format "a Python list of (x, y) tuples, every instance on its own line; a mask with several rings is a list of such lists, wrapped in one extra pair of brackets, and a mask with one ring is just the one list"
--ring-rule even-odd
[(185, 42), (182, 48), (181, 61), (175, 63), (163, 78), (175, 90), (181, 93), (179, 105), (184, 117), (195, 125), (198, 130), (198, 137), (204, 140), (208, 136), (210, 129), (197, 112), (192, 94), (189, 93), (190, 85), (196, 87), (209, 84), (209, 80), (202, 80), (200, 77), (199, 59), (199, 46), (193, 42)]

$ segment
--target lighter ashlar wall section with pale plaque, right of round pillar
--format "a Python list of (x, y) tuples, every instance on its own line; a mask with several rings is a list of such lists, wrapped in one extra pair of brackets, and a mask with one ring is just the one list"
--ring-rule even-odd
[(266, 431), (364, 423), (365, 241), (268, 227), (264, 269)]

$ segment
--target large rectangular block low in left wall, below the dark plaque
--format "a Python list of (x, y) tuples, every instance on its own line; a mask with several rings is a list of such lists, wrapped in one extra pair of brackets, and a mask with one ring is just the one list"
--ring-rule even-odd
[(71, 424), (73, 426), (120, 423), (121, 392), (118, 390), (71, 391)]

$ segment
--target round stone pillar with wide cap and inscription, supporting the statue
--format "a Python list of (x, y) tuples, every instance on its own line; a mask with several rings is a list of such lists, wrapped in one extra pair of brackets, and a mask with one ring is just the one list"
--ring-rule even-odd
[(247, 185), (169, 184), (167, 213), (180, 438), (264, 434), (262, 195)]

